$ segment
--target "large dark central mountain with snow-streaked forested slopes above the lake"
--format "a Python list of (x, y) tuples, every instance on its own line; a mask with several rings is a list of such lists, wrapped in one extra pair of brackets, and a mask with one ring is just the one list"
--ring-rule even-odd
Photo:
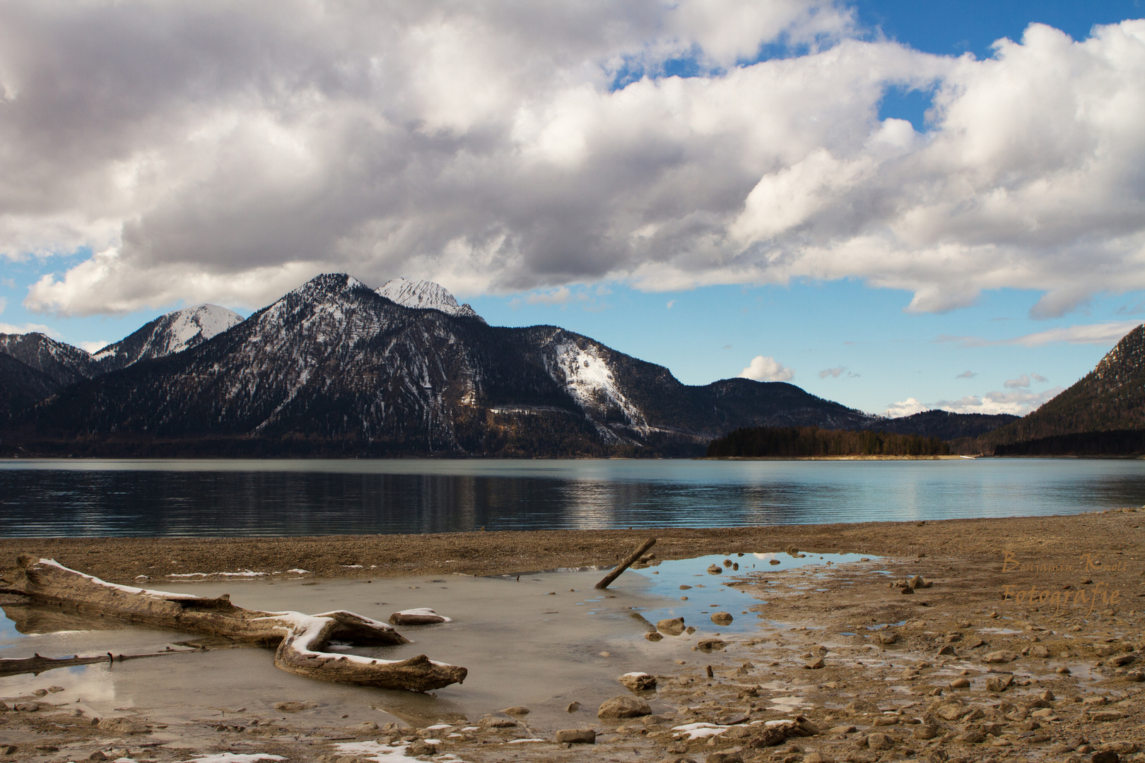
[(90, 453), (671, 454), (737, 427), (871, 419), (782, 382), (689, 387), (555, 326), (488, 326), (325, 275), (197, 347), (61, 391), (19, 431)]

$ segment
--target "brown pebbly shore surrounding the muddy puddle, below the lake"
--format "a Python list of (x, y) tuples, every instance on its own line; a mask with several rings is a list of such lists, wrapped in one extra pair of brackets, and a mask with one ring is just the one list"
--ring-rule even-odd
[[(647, 537), (660, 539), (654, 550), (661, 559), (704, 554), (734, 559), (792, 546), (886, 558), (877, 565), (721, 577), (756, 599), (745, 612), (766, 615), (758, 630), (720, 637), (718, 625), (697, 622), (689, 623), (695, 634), (665, 635), (664, 643), (690, 639), (695, 659), (655, 676), (653, 691), (616, 684), (617, 696), (652, 700), (657, 713), (621, 720), (598, 718), (595, 707), (569, 713), (568, 728), (593, 729), (595, 745), (558, 744), (555, 730), (530, 725), (528, 715), (498, 712), (504, 708), (489, 708), (489, 717), (468, 718), (468, 725), (452, 720), (435, 729), (314, 728), (290, 714), (246, 718), (242, 729), (149, 729), (147, 708), (132, 708), (123, 716), (137, 733), (128, 733), (125, 724), (93, 725), (46, 694), (5, 699), (37, 708), (0, 713), (0, 753), (14, 745), (8, 760), (52, 763), (88, 760), (95, 752), (166, 763), (191, 760), (192, 750), (342, 763), (434, 755), (474, 763), (940, 763), (1089, 761), (1103, 752), (1145, 761), (1139, 752), (1145, 748), (1143, 516), (1126, 509), (721, 530), (3, 539), (0, 558), (31, 553), (116, 582), (139, 583), (147, 575), (144, 585), (156, 588), (166, 575), (192, 572), (305, 569), (315, 577), (378, 578), (607, 565)], [(917, 587), (907, 586), (911, 579)], [(617, 675), (624, 671), (617, 666)], [(54, 681), (45, 674), (45, 686)], [(805, 718), (802, 733), (810, 736), (774, 730), (783, 723), (768, 726), (796, 716)], [(679, 729), (697, 723), (708, 725)]]

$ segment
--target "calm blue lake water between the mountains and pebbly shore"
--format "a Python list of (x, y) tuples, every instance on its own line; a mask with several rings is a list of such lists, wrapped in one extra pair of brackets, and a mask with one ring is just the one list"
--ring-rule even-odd
[(1136, 460), (0, 461), (9, 538), (744, 526), (1143, 503)]

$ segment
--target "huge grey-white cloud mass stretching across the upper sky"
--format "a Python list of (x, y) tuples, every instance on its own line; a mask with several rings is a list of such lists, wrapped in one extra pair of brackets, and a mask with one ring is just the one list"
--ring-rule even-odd
[[(100, 253), (30, 289), (64, 315), (324, 270), (1012, 287), (1034, 317), (1145, 288), (1145, 21), (985, 61), (861, 37), (830, 0), (6, 2), (0, 256)], [(704, 75), (660, 75), (680, 57)], [(933, 89), (925, 134), (878, 120), (890, 88)]]

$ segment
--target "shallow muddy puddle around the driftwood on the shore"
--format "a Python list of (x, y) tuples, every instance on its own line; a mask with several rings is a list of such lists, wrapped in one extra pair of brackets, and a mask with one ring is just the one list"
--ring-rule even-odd
[[(851, 558), (854, 557), (854, 558)], [(769, 564), (777, 558), (780, 564)], [(740, 570), (722, 569), (734, 561)], [(797, 566), (859, 561), (858, 555), (787, 554), (705, 556), (669, 561), (625, 572), (613, 586), (595, 590), (599, 570), (556, 571), (513, 577), (355, 580), (151, 580), (155, 588), (200, 596), (230, 594), (248, 609), (319, 613), (349, 610), (378, 620), (413, 607), (432, 607), (452, 622), (401, 627), (410, 644), (382, 649), (354, 647), (355, 653), (385, 659), (427, 654), (461, 665), (468, 677), (461, 685), (431, 694), (331, 684), (294, 676), (274, 667), (273, 651), (260, 647), (220, 649), (218, 642), (175, 630), (123, 626), (57, 610), (3, 605), (0, 657), (39, 653), (50, 657), (105, 652), (163, 652), (180, 643), (206, 644), (208, 651), (179, 653), (114, 665), (57, 668), (40, 676), (0, 677), (0, 697), (61, 686), (46, 697), (104, 716), (117, 708), (153, 708), (152, 722), (283, 716), (274, 705), (310, 700), (318, 707), (299, 715), (315, 723), (354, 725), (385, 723), (396, 716), (425, 725), (524, 705), (530, 725), (561, 728), (591, 723), (600, 702), (626, 690), (616, 681), (624, 673), (672, 673), (677, 660), (722, 663), (734, 655), (693, 651), (701, 637), (716, 633), (768, 629), (773, 623), (744, 612), (760, 602), (728, 583), (752, 571), (779, 572)], [(710, 565), (721, 567), (710, 574)], [(752, 566), (755, 565), (755, 566)], [(681, 586), (692, 588), (681, 590)], [(680, 601), (687, 595), (687, 601)], [(711, 613), (729, 612), (731, 625), (717, 626)], [(653, 643), (643, 635), (664, 618), (684, 617), (695, 634), (665, 636)], [(605, 654), (602, 654), (605, 653)], [(570, 702), (581, 702), (569, 714)], [(653, 699), (653, 709), (657, 707)]]

